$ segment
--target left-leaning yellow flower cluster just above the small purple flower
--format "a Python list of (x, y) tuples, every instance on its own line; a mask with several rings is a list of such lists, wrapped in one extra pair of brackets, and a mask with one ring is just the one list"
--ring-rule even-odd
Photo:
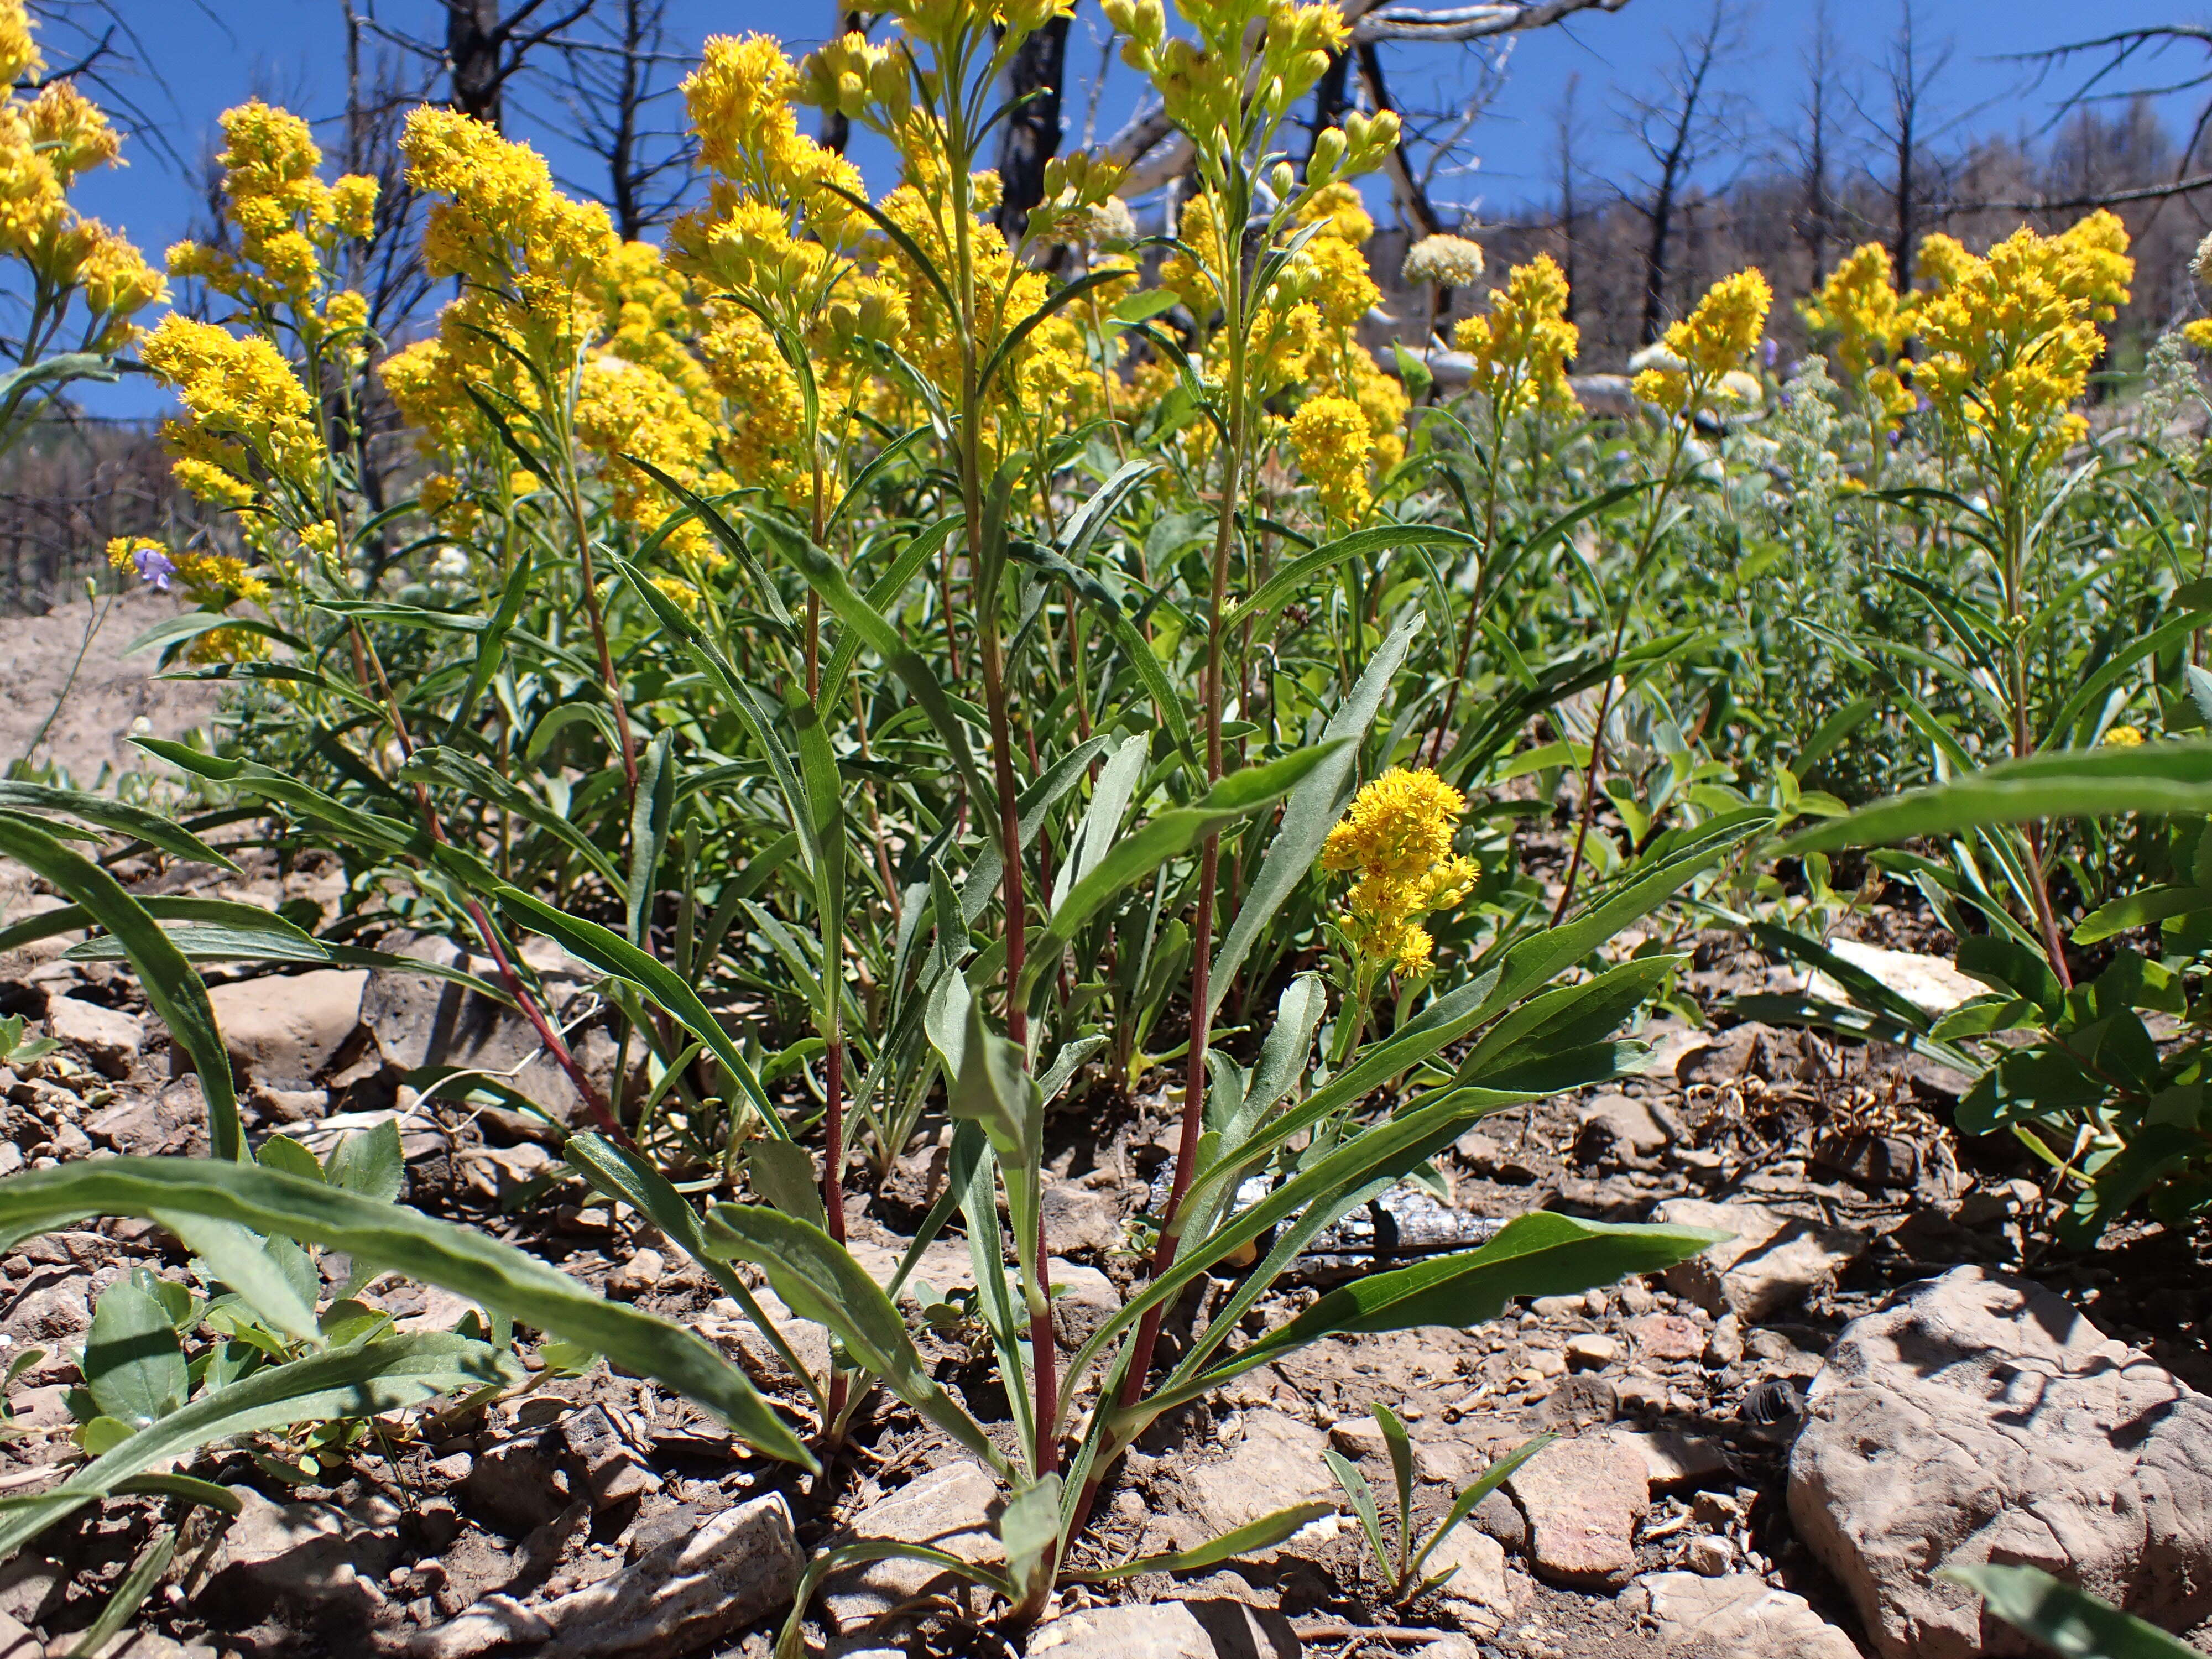
[(314, 400), (274, 345), (170, 312), (142, 356), (192, 416), (161, 427), (179, 484), (221, 507), (250, 507), (272, 484), (321, 498), (327, 451)]

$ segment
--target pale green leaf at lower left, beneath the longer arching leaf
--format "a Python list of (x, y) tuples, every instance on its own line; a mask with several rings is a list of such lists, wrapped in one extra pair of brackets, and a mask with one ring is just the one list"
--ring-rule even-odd
[(445, 1334), (394, 1336), (290, 1365), (265, 1365), (139, 1429), (60, 1486), (0, 1511), (0, 1557), (84, 1504), (126, 1491), (155, 1464), (188, 1458), (219, 1440), (288, 1429), (294, 1422), (374, 1418), (445, 1394), (520, 1380), (522, 1367), (507, 1354)]

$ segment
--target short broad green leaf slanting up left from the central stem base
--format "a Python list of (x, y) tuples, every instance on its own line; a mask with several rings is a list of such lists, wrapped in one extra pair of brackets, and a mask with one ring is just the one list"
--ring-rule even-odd
[(867, 1270), (812, 1221), (759, 1203), (717, 1203), (706, 1219), (706, 1248), (768, 1272), (776, 1296), (801, 1318), (825, 1325), (847, 1352), (900, 1400), (973, 1451), (998, 1473), (1006, 1458), (922, 1365), (898, 1307)]

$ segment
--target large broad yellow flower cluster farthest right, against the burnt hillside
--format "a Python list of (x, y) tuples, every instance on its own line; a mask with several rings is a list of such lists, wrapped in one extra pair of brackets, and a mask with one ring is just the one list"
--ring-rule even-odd
[(2128, 299), (2135, 261), (2119, 217), (2099, 210), (2044, 237), (2022, 226), (1989, 250), (1920, 243), (1929, 292), (1913, 307), (1924, 356), (1913, 385), (2004, 465), (2048, 465), (2079, 442), (2073, 411), (2104, 352), (2097, 321)]

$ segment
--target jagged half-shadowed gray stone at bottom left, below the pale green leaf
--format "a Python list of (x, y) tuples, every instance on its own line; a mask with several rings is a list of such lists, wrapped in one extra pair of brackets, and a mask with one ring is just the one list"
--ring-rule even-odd
[[(276, 1504), (232, 1489), (239, 1513), (223, 1526), (195, 1597), (215, 1619), (254, 1624), (276, 1606), (369, 1617), (380, 1579), (398, 1559), (398, 1533), (363, 1526), (334, 1504)], [(383, 1517), (378, 1517), (383, 1520)]]

